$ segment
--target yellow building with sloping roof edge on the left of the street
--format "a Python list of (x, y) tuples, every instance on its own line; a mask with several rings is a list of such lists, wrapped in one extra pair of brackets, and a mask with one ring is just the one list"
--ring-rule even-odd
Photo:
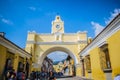
[(7, 67), (11, 66), (15, 72), (18, 72), (19, 62), (25, 64), (26, 61), (24, 60), (26, 60), (26, 58), (29, 60), (31, 57), (32, 56), (28, 52), (0, 35), (0, 80), (4, 80)]

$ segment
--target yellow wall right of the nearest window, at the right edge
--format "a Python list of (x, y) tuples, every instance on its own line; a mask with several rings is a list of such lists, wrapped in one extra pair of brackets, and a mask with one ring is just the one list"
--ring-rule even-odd
[(117, 74), (120, 74), (120, 31), (112, 35), (107, 42), (112, 67), (112, 76), (114, 78)]

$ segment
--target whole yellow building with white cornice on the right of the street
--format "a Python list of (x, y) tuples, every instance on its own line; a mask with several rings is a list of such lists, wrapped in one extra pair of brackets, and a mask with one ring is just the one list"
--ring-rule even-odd
[[(79, 54), (81, 63), (85, 64), (85, 74), (81, 76), (94, 80), (114, 80), (120, 74), (120, 14)], [(90, 62), (85, 62), (88, 55)]]

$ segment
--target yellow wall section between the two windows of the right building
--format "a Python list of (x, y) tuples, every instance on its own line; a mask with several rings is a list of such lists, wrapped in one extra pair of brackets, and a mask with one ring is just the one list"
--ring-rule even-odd
[(106, 80), (100, 66), (99, 48), (90, 51), (92, 78), (94, 80)]

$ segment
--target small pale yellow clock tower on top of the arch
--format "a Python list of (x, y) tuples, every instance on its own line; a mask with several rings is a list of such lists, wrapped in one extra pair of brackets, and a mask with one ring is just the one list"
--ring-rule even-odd
[(59, 15), (57, 15), (55, 20), (52, 21), (51, 33), (64, 33), (64, 22), (61, 20)]

